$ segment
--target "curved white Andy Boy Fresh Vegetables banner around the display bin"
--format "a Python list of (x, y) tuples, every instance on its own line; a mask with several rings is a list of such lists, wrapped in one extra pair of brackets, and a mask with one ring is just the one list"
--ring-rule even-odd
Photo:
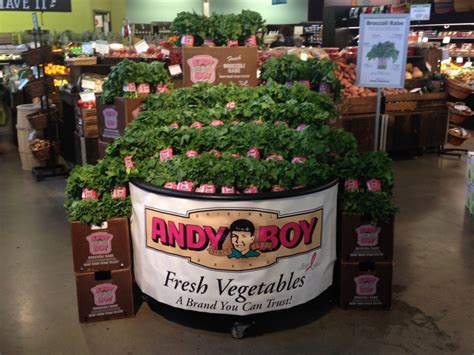
[(157, 301), (247, 315), (303, 304), (332, 284), (337, 184), (258, 200), (138, 185), (130, 184), (135, 278)]

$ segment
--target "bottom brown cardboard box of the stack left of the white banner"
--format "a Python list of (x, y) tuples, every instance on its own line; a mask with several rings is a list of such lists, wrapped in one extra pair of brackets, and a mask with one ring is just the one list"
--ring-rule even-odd
[(134, 316), (131, 269), (76, 274), (80, 322)]

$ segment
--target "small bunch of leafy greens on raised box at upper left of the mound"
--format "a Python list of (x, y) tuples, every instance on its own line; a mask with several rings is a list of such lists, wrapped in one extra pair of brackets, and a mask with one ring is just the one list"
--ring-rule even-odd
[(136, 63), (125, 59), (112, 67), (100, 100), (109, 104), (114, 97), (136, 98), (165, 90), (170, 82), (171, 77), (162, 62)]

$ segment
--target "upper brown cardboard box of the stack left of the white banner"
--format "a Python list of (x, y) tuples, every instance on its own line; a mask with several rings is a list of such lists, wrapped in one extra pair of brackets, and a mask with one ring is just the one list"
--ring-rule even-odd
[(132, 266), (128, 218), (109, 219), (104, 227), (71, 223), (75, 272), (120, 270)]

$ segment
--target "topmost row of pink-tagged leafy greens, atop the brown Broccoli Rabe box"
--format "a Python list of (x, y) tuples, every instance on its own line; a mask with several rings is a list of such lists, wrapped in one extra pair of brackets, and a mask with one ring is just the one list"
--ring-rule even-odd
[(180, 12), (171, 31), (180, 35), (183, 46), (258, 45), (257, 33), (264, 31), (265, 21), (255, 11), (242, 10), (238, 15), (213, 13), (210, 17), (195, 12)]

